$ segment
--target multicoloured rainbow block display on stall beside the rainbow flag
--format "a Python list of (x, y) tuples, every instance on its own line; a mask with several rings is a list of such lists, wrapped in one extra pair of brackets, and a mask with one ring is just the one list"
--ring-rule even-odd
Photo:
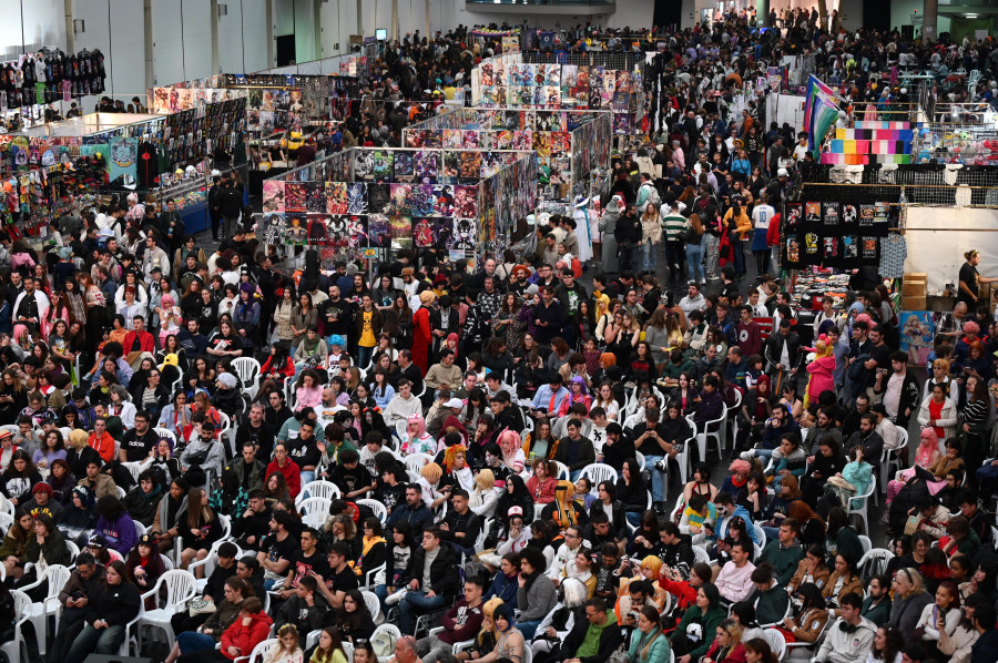
[(869, 163), (912, 163), (915, 131), (907, 122), (857, 121), (853, 129), (836, 129), (829, 151), (822, 163), (866, 165)]

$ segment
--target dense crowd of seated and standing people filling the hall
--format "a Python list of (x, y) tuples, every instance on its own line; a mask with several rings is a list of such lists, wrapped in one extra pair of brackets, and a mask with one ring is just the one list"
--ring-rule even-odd
[[(998, 660), (979, 255), (927, 379), (879, 279), (846, 308), (826, 297), (802, 334), (770, 258), (814, 154), (729, 108), (746, 68), (784, 52), (821, 51), (818, 73), (889, 103), (868, 75), (899, 55), (960, 98), (943, 68), (988, 71), (996, 51), (747, 19), (668, 37), (665, 129), (617, 165), (591, 287), (560, 215), (526, 255), (475, 268), (430, 248), (324, 273), (308, 251), (287, 274), (232, 174), (211, 255), (171, 201), (138, 196), (59, 220), (44, 253), (0, 238), (0, 641), (11, 592), (45, 600), (61, 564), (48, 659), (67, 663), (116, 653), (174, 568), (205, 584), (171, 620), (167, 663), (271, 636), (267, 663)], [(459, 82), (485, 54), (465, 37), (390, 48), (376, 94)], [(394, 135), (363, 105), (365, 135)], [(873, 557), (851, 520), (870, 488), (890, 532)]]

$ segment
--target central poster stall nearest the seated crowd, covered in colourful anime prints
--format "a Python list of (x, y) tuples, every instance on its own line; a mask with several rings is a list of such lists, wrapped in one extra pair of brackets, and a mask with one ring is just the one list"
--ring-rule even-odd
[(262, 241), (324, 263), (401, 248), (476, 262), (533, 211), (537, 159), (516, 151), (354, 147), (264, 182)]

